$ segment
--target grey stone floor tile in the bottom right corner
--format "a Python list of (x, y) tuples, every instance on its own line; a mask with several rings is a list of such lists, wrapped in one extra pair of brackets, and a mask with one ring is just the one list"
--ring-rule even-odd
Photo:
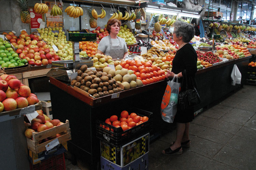
[(254, 156), (229, 147), (224, 147), (213, 159), (241, 170), (255, 170), (256, 166)]

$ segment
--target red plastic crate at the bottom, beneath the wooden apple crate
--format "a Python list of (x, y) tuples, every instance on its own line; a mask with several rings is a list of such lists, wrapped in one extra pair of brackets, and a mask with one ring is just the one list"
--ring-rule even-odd
[(66, 170), (64, 153), (43, 160), (39, 164), (29, 163), (30, 170)]

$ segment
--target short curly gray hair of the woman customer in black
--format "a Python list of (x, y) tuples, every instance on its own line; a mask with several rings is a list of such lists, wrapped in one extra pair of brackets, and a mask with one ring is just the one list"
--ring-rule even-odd
[(182, 36), (184, 43), (188, 43), (195, 35), (194, 27), (186, 22), (176, 21), (174, 23), (176, 37)]

